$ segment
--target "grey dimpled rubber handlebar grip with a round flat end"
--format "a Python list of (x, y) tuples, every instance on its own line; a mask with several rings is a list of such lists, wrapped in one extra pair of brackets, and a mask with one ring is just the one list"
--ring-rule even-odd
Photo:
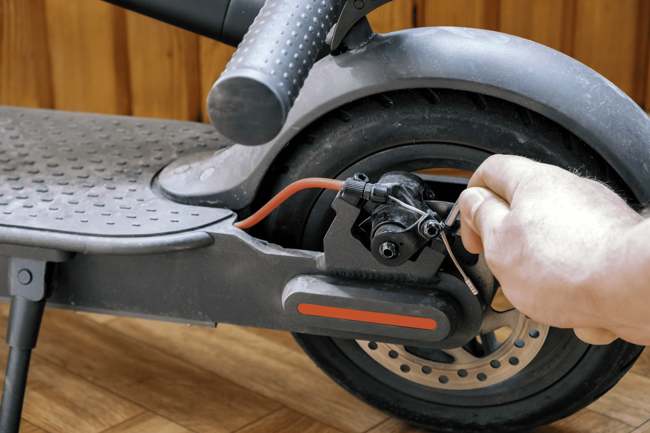
[(235, 143), (274, 138), (341, 13), (341, 0), (266, 0), (207, 98), (210, 121)]

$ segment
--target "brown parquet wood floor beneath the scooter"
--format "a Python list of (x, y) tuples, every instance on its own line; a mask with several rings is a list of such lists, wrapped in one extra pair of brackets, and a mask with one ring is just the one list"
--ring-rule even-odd
[[(8, 304), (0, 304), (6, 330)], [(7, 346), (0, 345), (0, 371)], [(650, 433), (650, 351), (534, 433)], [(21, 433), (417, 433), (358, 401), (287, 332), (45, 309)]]

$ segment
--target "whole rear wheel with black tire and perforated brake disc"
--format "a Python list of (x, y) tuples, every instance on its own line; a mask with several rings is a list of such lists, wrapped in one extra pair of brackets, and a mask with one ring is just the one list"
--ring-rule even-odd
[[(388, 171), (471, 172), (495, 153), (576, 169), (632, 197), (603, 158), (549, 119), (493, 97), (425, 89), (369, 97), (321, 118), (279, 156), (260, 200), (305, 177), (346, 179), (361, 171), (376, 182)], [(455, 201), (465, 188), (458, 180), (423, 178), (443, 201)], [(296, 193), (267, 217), (263, 236), (322, 251), (334, 196)], [(519, 432), (570, 415), (614, 386), (642, 350), (622, 340), (590, 346), (571, 329), (546, 327), (516, 310), (501, 314), (509, 317), (510, 336), (489, 333), (448, 351), (295, 337), (359, 399), (439, 432)]]

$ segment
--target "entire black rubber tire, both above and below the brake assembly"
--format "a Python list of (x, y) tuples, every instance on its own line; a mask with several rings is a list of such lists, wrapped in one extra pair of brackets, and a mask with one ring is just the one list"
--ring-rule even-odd
[[(345, 179), (358, 170), (374, 182), (393, 170), (449, 167), (473, 171), (494, 153), (523, 155), (574, 169), (608, 182), (634, 202), (616, 170), (560, 125), (508, 101), (434, 89), (369, 97), (319, 119), (279, 155), (256, 203), (265, 203), (305, 177)], [(296, 193), (266, 218), (264, 232), (255, 234), (285, 247), (322, 251), (322, 237), (334, 216), (330, 208), (334, 195), (314, 189)], [(307, 334), (295, 337), (333, 380), (387, 414), (436, 432), (506, 433), (551, 423), (590, 404), (616, 384), (643, 349), (622, 340), (588, 346), (577, 343), (571, 330), (556, 333), (564, 335), (564, 347), (571, 347), (565, 350), (576, 351), (562, 364), (560, 375), (549, 375), (543, 386), (538, 383), (528, 393), (515, 386), (509, 399), (463, 398), (456, 393), (447, 404), (441, 402), (445, 395), (435, 388), (417, 384), (409, 388), (413, 382), (388, 377), (392, 373), (372, 365), (372, 358), (354, 349), (354, 341)], [(539, 364), (529, 373), (544, 374)]]

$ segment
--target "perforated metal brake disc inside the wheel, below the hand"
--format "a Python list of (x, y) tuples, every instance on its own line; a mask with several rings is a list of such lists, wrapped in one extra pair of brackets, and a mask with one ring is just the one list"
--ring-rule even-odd
[(508, 339), (486, 356), (474, 356), (463, 347), (439, 349), (447, 354), (446, 362), (421, 358), (410, 353), (403, 345), (365, 340), (357, 340), (357, 343), (376, 362), (411, 382), (443, 390), (473, 390), (512, 377), (526, 367), (541, 349), (549, 333), (548, 325), (529, 319), (522, 313), (513, 322), (508, 324), (512, 328)]

